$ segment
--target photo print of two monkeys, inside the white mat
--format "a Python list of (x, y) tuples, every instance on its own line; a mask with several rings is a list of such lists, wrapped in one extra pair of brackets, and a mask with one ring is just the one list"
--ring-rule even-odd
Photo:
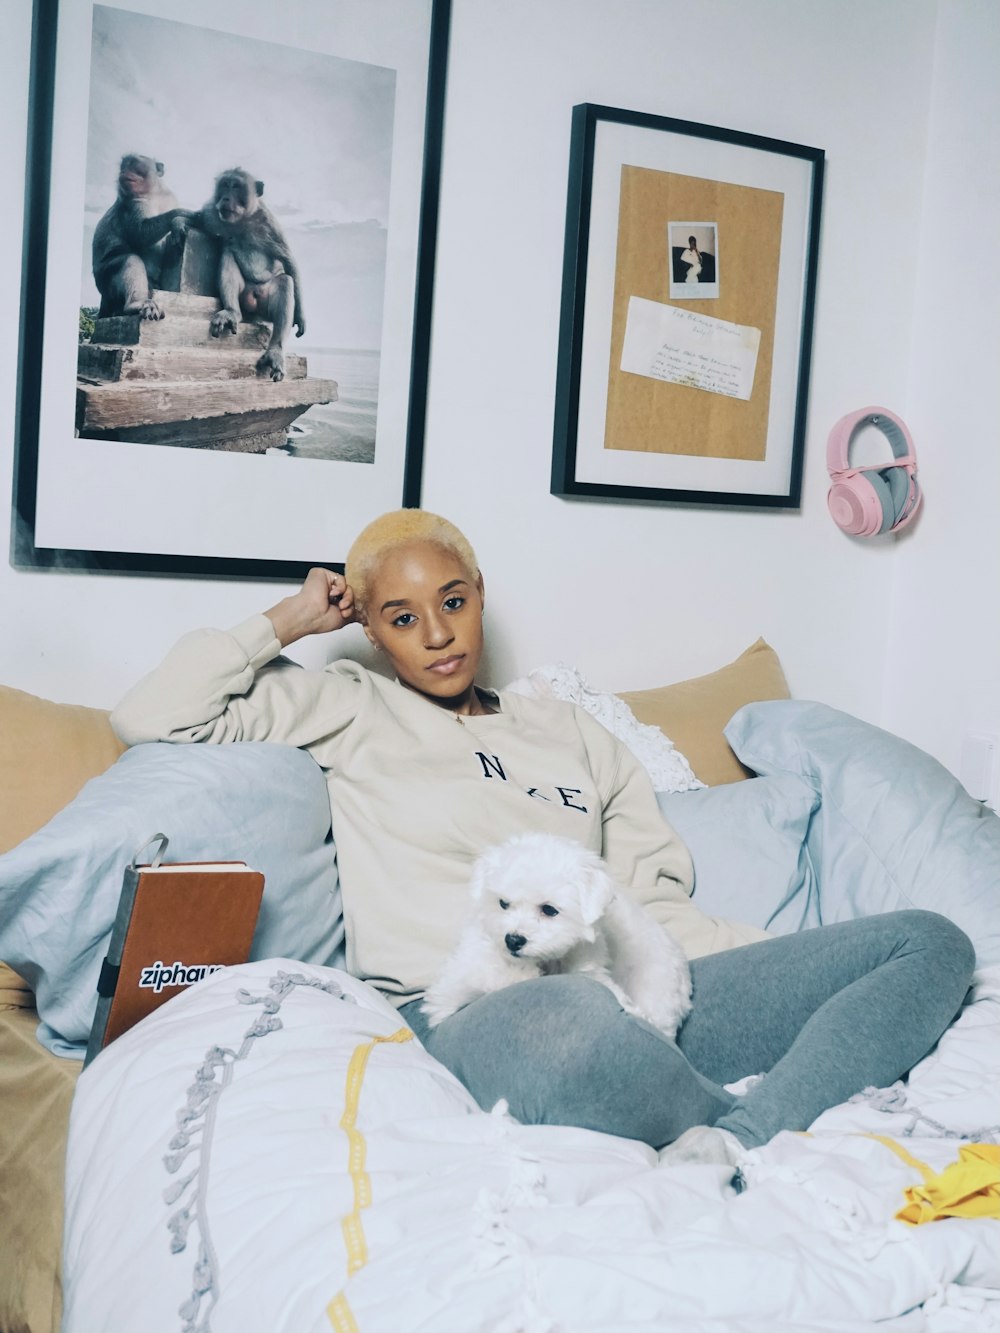
[[(396, 93), (393, 68), (93, 5), (79, 392), (135, 347), (177, 417), (157, 432), (144, 401), (131, 427), (123, 393), (115, 439), (372, 464), (401, 435), (380, 384)], [(197, 424), (232, 377), (257, 388)]]

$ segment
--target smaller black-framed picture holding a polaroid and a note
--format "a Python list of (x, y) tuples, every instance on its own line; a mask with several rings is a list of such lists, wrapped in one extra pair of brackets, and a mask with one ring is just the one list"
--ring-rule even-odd
[[(799, 507), (824, 163), (760, 135), (573, 108), (553, 495)], [(695, 300), (688, 231), (720, 251), (699, 256), (711, 283)]]

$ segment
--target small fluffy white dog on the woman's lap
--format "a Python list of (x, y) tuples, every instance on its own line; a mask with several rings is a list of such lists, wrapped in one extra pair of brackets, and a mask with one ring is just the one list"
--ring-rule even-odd
[(671, 1038), (687, 1017), (691, 969), (680, 945), (580, 842), (521, 833), (489, 848), (472, 868), (472, 900), (459, 944), (424, 997), (432, 1028), (479, 996), (564, 972), (600, 981)]

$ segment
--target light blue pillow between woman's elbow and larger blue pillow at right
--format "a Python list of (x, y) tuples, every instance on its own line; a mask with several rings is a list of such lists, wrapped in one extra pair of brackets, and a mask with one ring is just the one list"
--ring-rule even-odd
[(703, 912), (773, 934), (799, 929), (816, 893), (805, 838), (819, 796), (809, 782), (755, 777), (656, 800), (688, 845)]

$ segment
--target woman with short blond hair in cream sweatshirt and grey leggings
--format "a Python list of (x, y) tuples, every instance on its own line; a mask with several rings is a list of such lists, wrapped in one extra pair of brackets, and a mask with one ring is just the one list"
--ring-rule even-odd
[[(628, 750), (573, 705), (476, 684), (483, 611), (475, 553), (452, 524), (385, 515), (351, 548), (345, 576), (313, 569), (265, 615), (188, 635), (112, 722), (131, 744), (309, 750), (329, 786), (348, 966), (483, 1106), (505, 1097), (523, 1121), (736, 1168), (744, 1148), (805, 1129), (916, 1064), (961, 1005), (965, 936), (928, 912), (776, 940), (704, 916), (689, 898), (688, 852)], [(351, 661), (311, 672), (279, 659), (352, 623), (395, 680)], [(420, 998), (457, 938), (469, 866), (524, 829), (601, 852), (693, 958), (693, 1009), (676, 1044), (580, 976), (520, 982), (428, 1030)], [(745, 1096), (723, 1086), (761, 1072)]]

